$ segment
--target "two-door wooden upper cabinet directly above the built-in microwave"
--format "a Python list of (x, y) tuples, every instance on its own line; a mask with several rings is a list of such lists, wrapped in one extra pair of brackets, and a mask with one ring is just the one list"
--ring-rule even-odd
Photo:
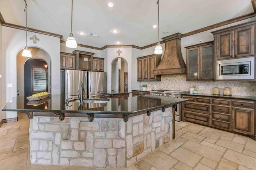
[(255, 56), (255, 22), (225, 28), (212, 34), (217, 60)]

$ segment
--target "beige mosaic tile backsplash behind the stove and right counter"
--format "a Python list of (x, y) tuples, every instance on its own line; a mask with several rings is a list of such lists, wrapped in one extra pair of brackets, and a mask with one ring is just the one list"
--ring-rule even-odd
[[(186, 81), (186, 75), (162, 75), (162, 81), (142, 82), (148, 84), (147, 89), (168, 89), (189, 91), (195, 85), (199, 93), (212, 94), (212, 87), (230, 87), (232, 95), (256, 96), (256, 81)], [(199, 86), (204, 89), (199, 89)]]

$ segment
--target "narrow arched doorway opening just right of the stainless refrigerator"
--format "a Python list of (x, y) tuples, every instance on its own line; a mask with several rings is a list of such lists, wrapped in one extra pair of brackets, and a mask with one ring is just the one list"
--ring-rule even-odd
[(128, 91), (128, 63), (124, 58), (118, 57), (112, 61), (111, 90)]

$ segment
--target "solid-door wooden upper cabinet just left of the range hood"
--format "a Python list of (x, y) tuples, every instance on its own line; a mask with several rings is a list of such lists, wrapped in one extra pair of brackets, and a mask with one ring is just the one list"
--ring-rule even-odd
[(161, 61), (161, 54), (152, 54), (137, 58), (137, 81), (161, 81), (160, 75), (153, 75)]

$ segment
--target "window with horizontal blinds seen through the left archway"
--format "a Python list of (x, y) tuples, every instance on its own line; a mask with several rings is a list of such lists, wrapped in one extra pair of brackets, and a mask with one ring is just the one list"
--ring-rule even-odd
[(32, 66), (32, 93), (48, 91), (48, 69), (44, 66)]

